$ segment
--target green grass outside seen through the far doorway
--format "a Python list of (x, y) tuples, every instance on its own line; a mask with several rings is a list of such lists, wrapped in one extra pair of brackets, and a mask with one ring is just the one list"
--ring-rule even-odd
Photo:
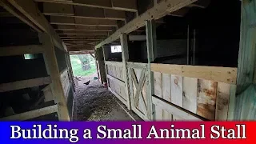
[(74, 76), (87, 76), (96, 72), (95, 61), (93, 58), (90, 59), (90, 70), (82, 70), (81, 63), (79, 63), (80, 60), (78, 58), (78, 55), (70, 55), (70, 61)]

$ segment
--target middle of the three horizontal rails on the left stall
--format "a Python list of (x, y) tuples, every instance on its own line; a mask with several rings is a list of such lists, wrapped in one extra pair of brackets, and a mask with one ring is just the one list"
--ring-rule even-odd
[(48, 85), (51, 83), (50, 77), (27, 79), (17, 82), (9, 82), (0, 84), (0, 92), (6, 92), (11, 90), (20, 90), (30, 88), (34, 86)]

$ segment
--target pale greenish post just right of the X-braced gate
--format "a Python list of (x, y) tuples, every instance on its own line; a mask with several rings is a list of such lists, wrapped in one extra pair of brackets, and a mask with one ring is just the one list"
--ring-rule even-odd
[(153, 103), (152, 95), (154, 94), (154, 73), (150, 70), (150, 63), (156, 58), (156, 31), (155, 31), (155, 22), (154, 20), (146, 21), (146, 46), (147, 46), (147, 58), (148, 58), (148, 67), (147, 67), (147, 76), (146, 84), (147, 88), (147, 106), (148, 106), (148, 117), (150, 120), (153, 120)]

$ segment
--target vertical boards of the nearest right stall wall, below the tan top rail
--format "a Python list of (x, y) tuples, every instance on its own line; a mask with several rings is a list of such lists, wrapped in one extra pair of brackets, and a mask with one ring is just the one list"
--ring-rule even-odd
[[(230, 83), (182, 77), (154, 71), (154, 95), (162, 101), (189, 110), (208, 120), (226, 121), (230, 101)], [(156, 108), (156, 120), (170, 118), (165, 110)], [(158, 110), (160, 110), (158, 112)], [(161, 115), (160, 115), (161, 114)], [(171, 114), (172, 120), (185, 120)]]

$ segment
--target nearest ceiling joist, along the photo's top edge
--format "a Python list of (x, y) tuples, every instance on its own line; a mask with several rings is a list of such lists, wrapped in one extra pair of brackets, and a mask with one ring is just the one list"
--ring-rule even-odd
[[(62, 4), (69, 4), (74, 6), (89, 6), (95, 8), (104, 8), (110, 10), (126, 10), (131, 12), (137, 12), (137, 4), (136, 0), (130, 0), (127, 2), (126, 0), (118, 0), (114, 1), (113, 4), (111, 0), (73, 0), (73, 1), (63, 1), (63, 0), (35, 0), (36, 2), (53, 2), (53, 3), (62, 3)], [(113, 6), (112, 6), (113, 5)]]

